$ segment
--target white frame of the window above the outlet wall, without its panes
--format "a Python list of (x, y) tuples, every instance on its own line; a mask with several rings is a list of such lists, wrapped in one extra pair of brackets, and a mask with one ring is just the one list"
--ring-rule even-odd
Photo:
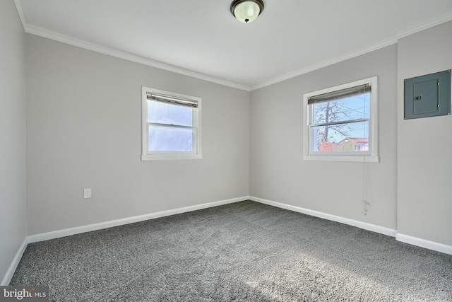
[[(195, 137), (196, 151), (186, 152), (186, 151), (148, 151), (149, 146), (149, 134), (148, 134), (148, 95), (163, 95), (170, 98), (177, 98), (182, 100), (189, 100), (198, 103), (198, 107), (194, 108), (194, 125), (193, 127), (197, 129)], [(184, 95), (181, 93), (173, 93), (171, 91), (162, 91), (156, 88), (142, 87), (141, 94), (141, 112), (142, 112), (142, 153), (141, 161), (167, 161), (167, 160), (184, 160), (184, 159), (201, 159), (201, 98), (192, 95)]]

